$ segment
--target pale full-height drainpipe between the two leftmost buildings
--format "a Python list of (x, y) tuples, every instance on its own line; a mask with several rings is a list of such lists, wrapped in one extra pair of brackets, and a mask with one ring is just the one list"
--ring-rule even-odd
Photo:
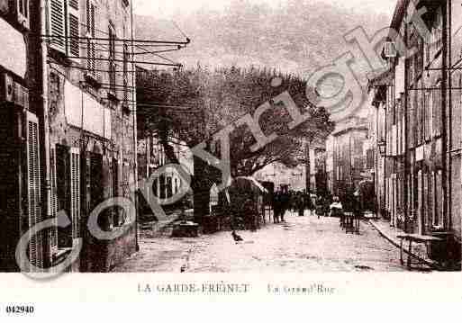
[[(41, 34), (47, 35), (48, 28), (47, 28), (47, 9), (48, 9), (48, 0), (41, 0)], [(44, 174), (44, 199), (45, 199), (45, 211), (46, 214), (45, 219), (50, 219), (51, 214), (51, 181), (50, 181), (50, 121), (49, 121), (49, 86), (48, 86), (48, 48), (47, 42), (41, 40), (41, 99), (43, 103), (43, 174)], [(45, 239), (43, 243), (44, 247), (44, 265), (51, 265), (51, 255), (50, 255), (50, 229), (44, 230), (45, 232)]]

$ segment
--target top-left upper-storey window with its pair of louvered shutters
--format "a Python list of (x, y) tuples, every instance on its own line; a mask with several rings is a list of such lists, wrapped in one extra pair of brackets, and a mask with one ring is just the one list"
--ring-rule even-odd
[(50, 45), (68, 58), (80, 58), (79, 0), (50, 0)]

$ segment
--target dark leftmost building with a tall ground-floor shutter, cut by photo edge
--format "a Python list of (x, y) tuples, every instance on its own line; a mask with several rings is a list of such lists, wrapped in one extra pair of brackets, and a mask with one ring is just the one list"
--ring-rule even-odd
[[(38, 2), (0, 1), (0, 272), (18, 271), (19, 239), (44, 218), (41, 209), (41, 32)], [(32, 238), (32, 265), (46, 264), (45, 237)]]

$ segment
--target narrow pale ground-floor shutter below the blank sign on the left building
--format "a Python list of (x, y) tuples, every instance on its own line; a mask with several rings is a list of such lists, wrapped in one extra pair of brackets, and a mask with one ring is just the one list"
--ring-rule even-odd
[(80, 237), (80, 150), (70, 149), (70, 217), (72, 238)]

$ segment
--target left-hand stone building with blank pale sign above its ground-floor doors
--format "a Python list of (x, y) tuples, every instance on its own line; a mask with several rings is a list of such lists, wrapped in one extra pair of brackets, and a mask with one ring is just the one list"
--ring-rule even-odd
[(137, 248), (136, 223), (121, 208), (98, 218), (120, 238), (96, 239), (91, 212), (117, 197), (133, 199), (137, 183), (135, 70), (128, 0), (49, 0), (47, 12), (51, 216), (67, 211), (72, 226), (51, 232), (51, 254), (83, 239), (72, 270), (106, 272)]

